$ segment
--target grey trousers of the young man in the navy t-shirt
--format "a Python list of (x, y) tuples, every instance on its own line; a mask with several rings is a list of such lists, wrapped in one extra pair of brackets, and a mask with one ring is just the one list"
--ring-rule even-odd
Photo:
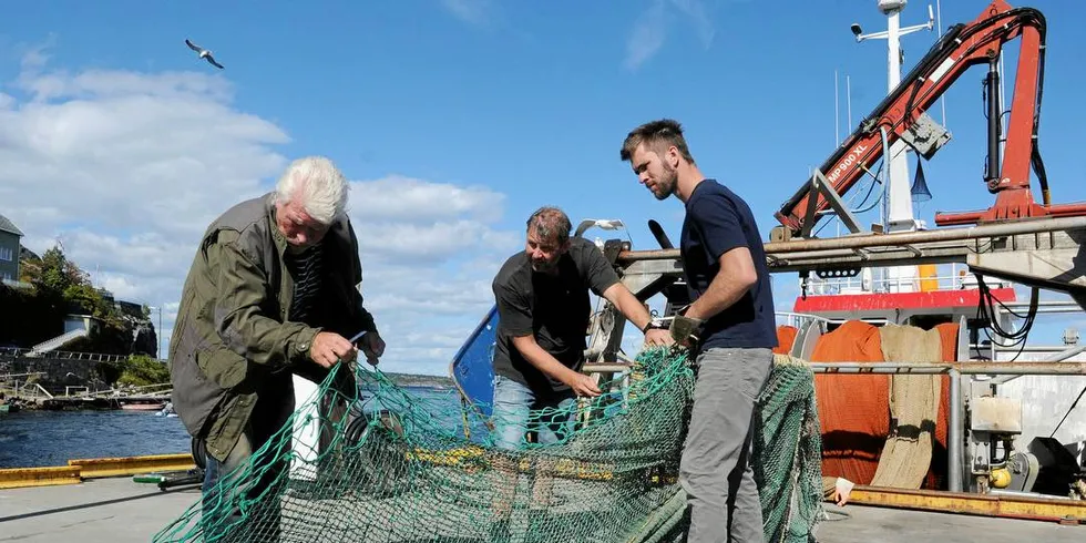
[(772, 351), (710, 348), (697, 363), (679, 467), (690, 505), (687, 542), (761, 542), (761, 500), (748, 459), (755, 400), (769, 378)]

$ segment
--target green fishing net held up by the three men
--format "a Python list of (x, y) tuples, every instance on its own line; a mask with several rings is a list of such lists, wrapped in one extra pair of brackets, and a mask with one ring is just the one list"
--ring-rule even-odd
[[(346, 370), (344, 370), (346, 371)], [(695, 371), (684, 351), (643, 351), (625, 378), (570, 410), (557, 443), (494, 447), (472, 408), (450, 410), (359, 368), (335, 375), (234, 473), (155, 536), (222, 542), (673, 542), (688, 522), (678, 464)], [(382, 409), (357, 406), (372, 395)], [(821, 519), (812, 373), (778, 357), (755, 445), (766, 537), (812, 541)], [(337, 409), (338, 407), (338, 409)], [(451, 412), (459, 411), (459, 412)], [(297, 447), (299, 428), (322, 432)], [(264, 489), (250, 483), (260, 480)], [(209, 494), (211, 495), (211, 494)]]

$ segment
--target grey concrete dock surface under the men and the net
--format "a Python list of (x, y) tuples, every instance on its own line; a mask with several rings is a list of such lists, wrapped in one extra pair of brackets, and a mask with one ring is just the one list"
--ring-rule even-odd
[[(131, 477), (0, 490), (0, 542), (147, 542), (199, 499), (196, 486), (158, 490)], [(1086, 525), (827, 504), (818, 541), (1011, 543), (1086, 541)]]

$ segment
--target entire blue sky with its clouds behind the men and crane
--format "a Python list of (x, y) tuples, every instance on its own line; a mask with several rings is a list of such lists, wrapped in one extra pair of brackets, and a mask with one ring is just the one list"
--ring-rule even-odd
[[(619, 218), (628, 232), (588, 236), (628, 235), (635, 248), (656, 248), (653, 218), (678, 239), (682, 204), (657, 202), (618, 158), (643, 122), (680, 121), (703, 172), (748, 201), (768, 239), (781, 203), (885, 95), (885, 41), (849, 31), (884, 29), (875, 4), (21, 2), (0, 24), (0, 214), (32, 250), (59, 240), (95, 286), (162, 307), (165, 346), (206, 225), (269, 191), (289, 161), (328, 156), (351, 180), (382, 367), (448, 375), (535, 208), (559, 205), (574, 224)], [(942, 2), (940, 22), (986, 6)], [(1029, 6), (1048, 23), (1039, 141), (1053, 201), (1083, 201), (1086, 3)], [(902, 25), (926, 11), (909, 2)], [(902, 38), (903, 73), (935, 39)], [(971, 69), (945, 94), (945, 116), (931, 112), (953, 139), (924, 164), (933, 199), (916, 213), (930, 226), (936, 209), (994, 202), (983, 76)], [(796, 275), (775, 275), (773, 289), (790, 309)], [(1058, 342), (1083, 325), (1038, 320), (1034, 334)]]

